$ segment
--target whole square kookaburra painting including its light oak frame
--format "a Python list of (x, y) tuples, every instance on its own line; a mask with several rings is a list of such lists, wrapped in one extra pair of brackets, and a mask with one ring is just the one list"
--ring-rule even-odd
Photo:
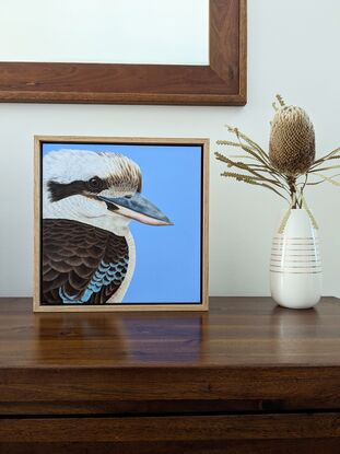
[(208, 310), (208, 139), (35, 137), (34, 311)]

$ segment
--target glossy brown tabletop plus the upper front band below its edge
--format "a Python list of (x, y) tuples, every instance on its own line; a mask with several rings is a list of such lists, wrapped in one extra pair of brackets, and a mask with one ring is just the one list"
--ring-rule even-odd
[(340, 406), (340, 304), (211, 298), (209, 313), (33, 314), (31, 299), (1, 299), (0, 396), (9, 412), (56, 401)]

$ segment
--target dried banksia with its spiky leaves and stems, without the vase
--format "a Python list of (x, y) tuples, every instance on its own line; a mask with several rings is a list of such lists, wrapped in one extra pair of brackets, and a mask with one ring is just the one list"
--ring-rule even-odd
[[(306, 209), (317, 228), (307, 207), (304, 190), (308, 185), (324, 182), (340, 186), (340, 182), (336, 179), (340, 174), (326, 176), (320, 173), (340, 168), (340, 165), (330, 165), (333, 160), (340, 159), (340, 148), (315, 160), (315, 133), (308, 115), (301, 107), (285, 105), (280, 95), (277, 95), (277, 100), (279, 105), (273, 103), (275, 115), (271, 121), (269, 153), (237, 128), (227, 126), (237, 141), (218, 140), (216, 143), (238, 148), (246, 154), (226, 156), (216, 152), (219, 161), (237, 170), (223, 172), (221, 175), (272, 190), (290, 203), (290, 210)], [(281, 229), (284, 229), (284, 222)]]

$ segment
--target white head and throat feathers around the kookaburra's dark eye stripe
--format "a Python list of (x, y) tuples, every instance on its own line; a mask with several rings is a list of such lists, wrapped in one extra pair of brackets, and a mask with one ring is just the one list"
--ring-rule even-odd
[(120, 153), (62, 149), (50, 151), (43, 158), (43, 218), (70, 219), (84, 222), (118, 235), (128, 234), (129, 220), (107, 210), (104, 201), (82, 195), (51, 201), (48, 182), (69, 184), (98, 176), (110, 187), (101, 194), (121, 197), (134, 194), (141, 187), (141, 171), (129, 158)]

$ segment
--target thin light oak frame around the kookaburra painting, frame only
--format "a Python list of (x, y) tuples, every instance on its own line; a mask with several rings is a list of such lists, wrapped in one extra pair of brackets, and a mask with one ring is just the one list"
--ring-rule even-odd
[[(105, 304), (83, 306), (48, 306), (40, 302), (40, 153), (43, 143), (136, 143), (136, 144), (192, 144), (202, 147), (202, 190), (201, 190), (201, 298), (200, 304)], [(131, 311), (208, 311), (209, 307), (209, 139), (188, 138), (112, 138), (78, 136), (35, 136), (34, 137), (34, 312), (131, 312)]]

